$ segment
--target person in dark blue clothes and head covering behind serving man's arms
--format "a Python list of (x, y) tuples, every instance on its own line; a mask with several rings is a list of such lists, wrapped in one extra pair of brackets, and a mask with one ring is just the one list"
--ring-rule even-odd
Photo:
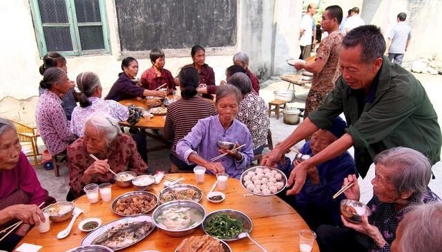
[[(311, 139), (300, 148), (299, 153), (316, 155), (344, 135), (346, 127), (347, 124), (343, 119), (336, 117), (332, 126), (313, 133)], [(289, 157), (282, 156), (277, 164), (278, 168), (288, 176), (300, 162), (302, 161), (294, 159), (291, 163)], [(279, 196), (298, 211), (312, 230), (321, 224), (341, 225), (339, 202), (345, 199), (345, 196), (341, 194), (334, 199), (332, 195), (342, 186), (343, 179), (354, 173), (356, 173), (356, 164), (346, 151), (334, 159), (311, 167), (300, 193), (289, 196), (280, 193)]]

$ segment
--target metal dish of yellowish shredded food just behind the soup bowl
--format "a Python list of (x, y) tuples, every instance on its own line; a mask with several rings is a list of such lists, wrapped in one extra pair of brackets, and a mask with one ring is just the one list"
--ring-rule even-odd
[(161, 203), (173, 200), (191, 200), (194, 202), (200, 202), (202, 199), (202, 191), (197, 186), (191, 184), (175, 184), (164, 188), (160, 192), (158, 199)]

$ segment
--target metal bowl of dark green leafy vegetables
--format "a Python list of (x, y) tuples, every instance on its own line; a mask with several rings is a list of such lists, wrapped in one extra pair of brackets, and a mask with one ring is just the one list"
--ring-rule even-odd
[(238, 240), (238, 234), (251, 232), (252, 223), (245, 213), (222, 209), (209, 213), (202, 222), (202, 229), (213, 238), (223, 241)]

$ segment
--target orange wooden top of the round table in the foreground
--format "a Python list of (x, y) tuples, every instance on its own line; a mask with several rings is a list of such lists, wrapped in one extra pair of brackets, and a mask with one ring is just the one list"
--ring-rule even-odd
[[(247, 214), (253, 222), (251, 237), (264, 246), (267, 251), (299, 251), (298, 231), (300, 229), (308, 229), (308, 226), (304, 220), (302, 220), (302, 217), (300, 217), (289, 204), (280, 200), (279, 197), (250, 195), (248, 191), (242, 188), (238, 180), (229, 178), (227, 190), (223, 191), (227, 196), (226, 200), (214, 204), (206, 200), (205, 196), (213, 182), (215, 182), (215, 176), (206, 174), (204, 184), (196, 184), (193, 173), (173, 173), (167, 174), (167, 176), (175, 180), (184, 177), (184, 184), (194, 184), (201, 188), (204, 192), (204, 197), (200, 201), (200, 204), (204, 206), (207, 214), (218, 209), (235, 209)], [(162, 185), (164, 181), (166, 180), (163, 179), (160, 184), (153, 186), (150, 191), (158, 195), (162, 188), (164, 188)], [(110, 202), (102, 202), (102, 200), (99, 200), (97, 203), (90, 204), (86, 196), (79, 197), (74, 203), (75, 206), (83, 209), (84, 213), (79, 215), (67, 238), (57, 240), (56, 236), (59, 231), (68, 226), (70, 220), (59, 223), (52, 222), (50, 231), (46, 233), (39, 233), (37, 228), (33, 228), (28, 235), (21, 240), (20, 244), (26, 242), (41, 245), (43, 248), (39, 252), (66, 251), (80, 246), (81, 240), (86, 236), (86, 233), (78, 229), (77, 226), (79, 222), (88, 217), (99, 217), (102, 219), (103, 224), (119, 219), (121, 216), (115, 215), (115, 213), (111, 211), (112, 201), (123, 193), (135, 190), (135, 187), (119, 188), (113, 185), (112, 200)], [(215, 189), (215, 191), (217, 191), (217, 189)], [(152, 211), (148, 214), (150, 215), (151, 213)], [(203, 234), (204, 231), (200, 226), (192, 235)], [(184, 238), (186, 237), (173, 238), (156, 229), (144, 238), (144, 240), (122, 251), (157, 250), (173, 252)], [(233, 251), (260, 251), (260, 249), (247, 238), (228, 243)], [(312, 251), (319, 251), (316, 243)]]

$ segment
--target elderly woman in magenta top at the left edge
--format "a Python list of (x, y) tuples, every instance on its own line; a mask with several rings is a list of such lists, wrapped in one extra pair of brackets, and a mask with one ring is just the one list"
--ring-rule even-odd
[[(0, 249), (12, 251), (34, 224), (44, 220), (38, 205), (55, 203), (48, 191), (41, 187), (34, 168), (21, 151), (14, 124), (0, 117)], [(5, 228), (23, 221), (7, 234)], [(6, 235), (3, 237), (3, 235)]]

